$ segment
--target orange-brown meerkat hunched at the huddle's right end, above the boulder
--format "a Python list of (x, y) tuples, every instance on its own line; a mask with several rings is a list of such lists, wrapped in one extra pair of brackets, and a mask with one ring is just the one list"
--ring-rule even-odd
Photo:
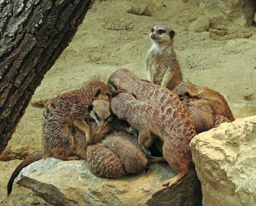
[[(174, 91), (181, 99), (193, 98), (196, 101), (190, 101), (189, 105), (192, 107), (196, 105), (209, 105), (212, 108), (213, 115), (219, 115), (223, 117), (215, 117), (215, 121), (225, 121), (226, 117), (228, 121), (234, 121), (235, 118), (231, 109), (228, 106), (225, 98), (213, 89), (207, 87), (194, 85), (188, 79), (180, 83)], [(218, 120), (219, 118), (219, 120)]]

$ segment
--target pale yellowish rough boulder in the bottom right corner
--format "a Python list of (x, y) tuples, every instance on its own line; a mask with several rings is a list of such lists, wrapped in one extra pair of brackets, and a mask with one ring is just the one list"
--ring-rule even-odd
[(191, 150), (204, 205), (256, 205), (256, 116), (198, 134)]

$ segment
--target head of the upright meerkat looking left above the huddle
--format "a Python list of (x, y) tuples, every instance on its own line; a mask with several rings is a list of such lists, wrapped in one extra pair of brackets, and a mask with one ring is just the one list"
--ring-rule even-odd
[(155, 25), (149, 37), (154, 43), (172, 43), (175, 32), (167, 25)]

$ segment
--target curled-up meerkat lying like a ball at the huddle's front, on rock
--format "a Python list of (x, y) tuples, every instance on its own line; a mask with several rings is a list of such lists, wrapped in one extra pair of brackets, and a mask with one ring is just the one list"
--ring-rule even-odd
[(104, 178), (121, 178), (147, 167), (138, 140), (124, 131), (109, 134), (101, 143), (88, 146), (86, 156), (90, 171)]

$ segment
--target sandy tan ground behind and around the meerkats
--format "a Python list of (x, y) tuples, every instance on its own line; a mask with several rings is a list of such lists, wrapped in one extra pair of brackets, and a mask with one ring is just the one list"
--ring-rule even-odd
[[(169, 24), (177, 33), (175, 50), (183, 76), (221, 92), (235, 117), (256, 114), (256, 29), (251, 38), (212, 39), (209, 32), (188, 31), (190, 23), (201, 14), (196, 5), (182, 1), (137, 2), (96, 1), (70, 46), (47, 72), (32, 101), (79, 88), (89, 79), (106, 81), (120, 68), (128, 68), (145, 78), (144, 57), (151, 45), (148, 32), (154, 24)], [(151, 16), (127, 12), (146, 6)], [(17, 159), (41, 149), (41, 117), (42, 109), (28, 107), (1, 159)], [(18, 163), (20, 160), (0, 161), (0, 205), (47, 205), (16, 184), (6, 198), (5, 185)]]

